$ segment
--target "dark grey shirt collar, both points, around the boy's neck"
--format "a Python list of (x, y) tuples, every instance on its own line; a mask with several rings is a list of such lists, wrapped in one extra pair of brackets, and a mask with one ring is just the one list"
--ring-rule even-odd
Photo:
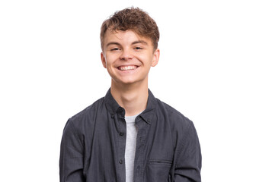
[[(108, 89), (107, 94), (105, 96), (105, 103), (107, 106), (107, 110), (110, 111), (111, 116), (116, 115), (119, 109), (123, 109), (110, 93), (110, 89)], [(148, 124), (151, 124), (152, 122), (151, 118), (153, 118), (153, 115), (155, 115), (154, 111), (155, 111), (156, 105), (157, 105), (157, 101), (155, 99), (155, 96), (152, 94), (152, 92), (149, 89), (149, 98), (148, 98), (146, 109), (142, 111), (142, 113), (140, 114), (141, 118), (144, 121), (146, 121)]]

